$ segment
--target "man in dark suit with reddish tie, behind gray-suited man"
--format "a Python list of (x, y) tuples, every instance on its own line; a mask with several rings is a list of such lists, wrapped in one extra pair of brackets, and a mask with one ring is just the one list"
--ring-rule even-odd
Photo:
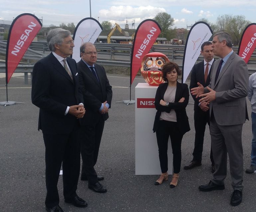
[[(204, 60), (193, 66), (191, 72), (190, 89), (197, 87), (197, 82), (201, 83), (203, 87), (206, 87), (210, 83), (211, 67), (214, 62), (213, 50), (211, 42), (206, 41), (201, 45), (201, 54)], [(206, 102), (199, 103), (199, 99), (194, 99), (194, 127), (195, 127), (195, 141), (193, 159), (184, 169), (192, 169), (196, 166), (201, 166), (202, 151), (203, 151), (203, 137), (205, 132), (205, 126), (210, 126), (210, 114), (209, 106)], [(215, 171), (214, 160), (212, 157), (212, 150), (210, 151), (211, 159), (211, 172)]]

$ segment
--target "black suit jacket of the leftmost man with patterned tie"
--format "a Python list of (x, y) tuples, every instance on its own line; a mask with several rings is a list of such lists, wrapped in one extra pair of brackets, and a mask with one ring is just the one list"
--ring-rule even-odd
[(33, 68), (31, 99), (40, 108), (38, 130), (43, 133), (68, 134), (77, 122), (75, 116), (64, 115), (67, 106), (82, 102), (82, 95), (78, 94), (76, 62), (69, 57), (66, 61), (73, 81), (52, 53)]

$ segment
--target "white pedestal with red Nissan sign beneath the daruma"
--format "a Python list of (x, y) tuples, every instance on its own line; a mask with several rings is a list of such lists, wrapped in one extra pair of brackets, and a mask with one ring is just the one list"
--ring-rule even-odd
[[(135, 175), (161, 174), (156, 133), (153, 124), (156, 115), (154, 106), (158, 86), (138, 83), (135, 87)], [(168, 172), (172, 174), (173, 154), (168, 141)]]

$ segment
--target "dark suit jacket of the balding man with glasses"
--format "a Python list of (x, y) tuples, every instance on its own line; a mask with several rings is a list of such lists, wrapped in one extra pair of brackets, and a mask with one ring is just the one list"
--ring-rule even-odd
[(109, 108), (111, 107), (112, 86), (109, 84), (105, 69), (96, 63), (94, 63), (94, 67), (99, 82), (82, 60), (77, 63), (79, 90), (83, 94), (83, 104), (85, 108), (81, 125), (97, 123), (100, 118), (106, 121), (108, 119), (108, 113), (101, 115), (99, 108), (101, 107), (101, 103), (105, 101), (109, 104)]

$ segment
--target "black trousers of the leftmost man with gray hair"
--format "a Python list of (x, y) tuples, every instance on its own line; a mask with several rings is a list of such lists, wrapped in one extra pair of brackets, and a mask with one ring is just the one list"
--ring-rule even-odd
[(47, 207), (59, 205), (58, 180), (63, 168), (63, 194), (65, 199), (76, 195), (80, 173), (79, 125), (70, 134), (43, 134), (46, 164)]

